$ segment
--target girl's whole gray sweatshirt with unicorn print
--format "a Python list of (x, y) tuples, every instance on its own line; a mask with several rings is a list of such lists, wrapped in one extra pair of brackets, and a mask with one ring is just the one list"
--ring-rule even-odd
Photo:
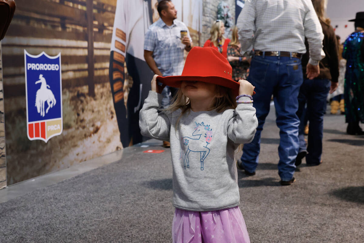
[[(143, 136), (171, 143), (173, 205), (189, 211), (214, 211), (239, 204), (235, 149), (253, 140), (258, 120), (252, 103), (235, 110), (162, 111), (162, 95), (149, 91), (139, 113)], [(250, 100), (242, 97), (240, 100)]]

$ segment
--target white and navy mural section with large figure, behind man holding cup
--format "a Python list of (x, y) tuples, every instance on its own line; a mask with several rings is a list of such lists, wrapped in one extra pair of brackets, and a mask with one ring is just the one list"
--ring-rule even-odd
[[(199, 46), (202, 0), (173, 0), (173, 4), (178, 10), (177, 19), (186, 24), (194, 45)], [(124, 147), (149, 139), (140, 133), (139, 111), (154, 75), (144, 59), (144, 35), (159, 19), (157, 5), (157, 0), (117, 0), (116, 3), (109, 79)]]

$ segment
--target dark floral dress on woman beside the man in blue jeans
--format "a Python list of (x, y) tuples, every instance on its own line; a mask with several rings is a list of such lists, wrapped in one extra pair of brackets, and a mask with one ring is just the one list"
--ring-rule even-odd
[[(229, 45), (227, 47), (227, 56), (237, 56), (243, 58), (240, 54), (240, 47), (235, 45)], [(246, 79), (248, 77), (249, 62), (248, 61), (232, 61), (229, 62), (233, 68), (233, 80), (239, 81), (239, 79)]]

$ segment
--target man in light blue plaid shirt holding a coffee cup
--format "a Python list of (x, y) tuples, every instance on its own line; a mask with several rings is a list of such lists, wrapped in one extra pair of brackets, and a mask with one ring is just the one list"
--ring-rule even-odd
[[(152, 24), (145, 34), (144, 58), (154, 72), (160, 76), (181, 75), (183, 70), (183, 50), (193, 47), (187, 26), (177, 20), (177, 10), (171, 0), (162, 0), (157, 7), (160, 19)], [(181, 30), (187, 36), (181, 39)], [(175, 89), (166, 86), (163, 91), (163, 108), (170, 105)], [(168, 147), (169, 142), (163, 142)]]

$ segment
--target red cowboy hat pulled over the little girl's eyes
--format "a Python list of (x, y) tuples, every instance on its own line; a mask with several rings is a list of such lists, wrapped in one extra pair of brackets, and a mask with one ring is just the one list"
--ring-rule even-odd
[(220, 52), (213, 47), (198, 46), (187, 55), (182, 75), (158, 76), (157, 81), (175, 88), (181, 87), (181, 81), (214, 83), (232, 89), (234, 95), (238, 95), (240, 86), (232, 79), (232, 67)]

